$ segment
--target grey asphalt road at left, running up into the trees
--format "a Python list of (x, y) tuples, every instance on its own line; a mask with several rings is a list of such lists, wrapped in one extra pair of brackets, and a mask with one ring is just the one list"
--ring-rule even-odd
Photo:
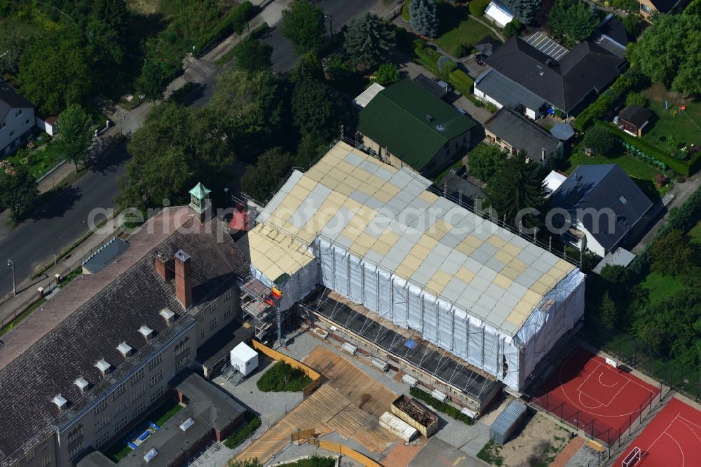
[[(0, 296), (12, 291), (12, 271), (7, 259), (15, 263), (18, 285), (46, 264), (53, 252), (60, 252), (88, 230), (88, 214), (95, 208), (114, 207), (118, 176), (124, 172), (125, 151), (112, 154), (47, 203), (31, 219), (0, 238)], [(20, 288), (20, 287), (18, 287)]]

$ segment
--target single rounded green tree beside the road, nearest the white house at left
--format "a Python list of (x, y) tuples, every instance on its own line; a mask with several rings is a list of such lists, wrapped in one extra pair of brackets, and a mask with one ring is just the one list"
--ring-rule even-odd
[(56, 145), (76, 165), (78, 172), (78, 165), (86, 161), (93, 140), (93, 121), (79, 104), (70, 104), (58, 116), (56, 126), (60, 135)]

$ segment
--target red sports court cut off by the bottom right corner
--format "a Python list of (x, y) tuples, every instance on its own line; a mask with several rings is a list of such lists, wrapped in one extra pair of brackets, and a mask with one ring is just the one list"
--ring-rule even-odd
[(669, 400), (613, 465), (623, 466), (636, 448), (640, 459), (630, 456), (627, 467), (701, 466), (701, 412), (681, 400)]

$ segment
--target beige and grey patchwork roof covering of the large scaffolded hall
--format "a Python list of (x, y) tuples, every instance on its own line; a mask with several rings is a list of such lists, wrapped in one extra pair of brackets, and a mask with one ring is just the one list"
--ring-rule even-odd
[[(292, 172), (258, 221), (286, 237), (280, 250), (306, 258), (300, 250), (324, 238), (514, 336), (575, 266), (426, 191), (430, 185), (339, 142), (307, 172)], [(271, 239), (249, 241), (257, 250)]]

